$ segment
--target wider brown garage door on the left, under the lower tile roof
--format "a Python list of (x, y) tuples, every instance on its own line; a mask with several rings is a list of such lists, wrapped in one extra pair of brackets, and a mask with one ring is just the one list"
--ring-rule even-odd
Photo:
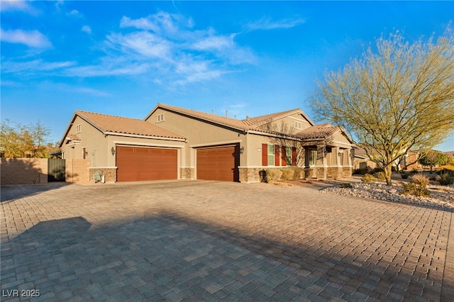
[(177, 179), (177, 150), (116, 147), (117, 181)]

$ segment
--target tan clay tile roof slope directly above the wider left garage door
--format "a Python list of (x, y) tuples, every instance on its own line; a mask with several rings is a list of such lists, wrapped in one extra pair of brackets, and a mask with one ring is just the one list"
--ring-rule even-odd
[(76, 111), (76, 114), (84, 118), (102, 132), (125, 133), (131, 135), (156, 136), (161, 138), (181, 138), (181, 135), (148, 123), (137, 118), (123, 118), (121, 116), (109, 116), (107, 114)]

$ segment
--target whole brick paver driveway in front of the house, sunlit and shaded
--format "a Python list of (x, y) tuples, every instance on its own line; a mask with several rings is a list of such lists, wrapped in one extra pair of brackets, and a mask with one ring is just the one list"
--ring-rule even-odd
[(0, 205), (2, 301), (454, 297), (437, 208), (215, 181), (3, 186)]

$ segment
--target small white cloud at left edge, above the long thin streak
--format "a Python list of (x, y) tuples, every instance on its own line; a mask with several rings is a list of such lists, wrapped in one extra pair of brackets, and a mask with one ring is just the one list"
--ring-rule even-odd
[(3, 28), (0, 28), (0, 39), (3, 42), (18, 43), (34, 48), (52, 47), (48, 38), (38, 30), (3, 30)]

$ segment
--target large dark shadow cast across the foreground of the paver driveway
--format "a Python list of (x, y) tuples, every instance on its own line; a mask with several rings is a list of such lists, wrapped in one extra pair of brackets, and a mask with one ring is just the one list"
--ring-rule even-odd
[(50, 220), (4, 242), (3, 292), (38, 289), (38, 300), (57, 301), (447, 301), (440, 272), (411, 270), (380, 247), (353, 257), (358, 242), (294, 244), (172, 211), (91, 226), (82, 217)]

